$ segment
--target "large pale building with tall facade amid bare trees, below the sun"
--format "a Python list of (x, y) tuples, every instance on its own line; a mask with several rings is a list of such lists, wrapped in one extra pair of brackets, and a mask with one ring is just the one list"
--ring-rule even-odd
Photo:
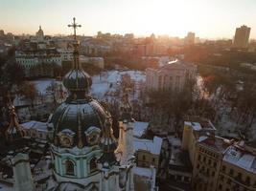
[(197, 66), (173, 61), (157, 68), (146, 70), (147, 91), (181, 92), (187, 79), (195, 79)]

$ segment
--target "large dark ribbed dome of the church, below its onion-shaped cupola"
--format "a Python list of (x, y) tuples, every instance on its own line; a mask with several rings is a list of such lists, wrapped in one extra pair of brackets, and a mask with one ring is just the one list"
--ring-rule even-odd
[[(90, 128), (94, 127), (98, 130), (102, 130), (105, 125), (105, 119), (107, 114), (101, 104), (92, 99), (80, 99), (80, 100), (67, 100), (58, 106), (58, 109), (51, 118), (53, 123), (55, 144), (60, 145), (58, 138), (59, 133), (66, 134), (71, 132), (73, 141), (70, 147), (74, 147), (79, 144), (79, 134), (81, 134), (82, 145), (89, 146), (87, 133), (90, 133)], [(98, 132), (99, 133), (99, 132)]]

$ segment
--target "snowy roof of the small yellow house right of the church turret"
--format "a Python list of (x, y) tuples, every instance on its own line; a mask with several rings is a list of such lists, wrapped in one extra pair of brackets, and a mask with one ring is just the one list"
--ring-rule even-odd
[(160, 155), (163, 138), (153, 137), (153, 139), (134, 138), (133, 144), (135, 151), (144, 150), (151, 154)]

